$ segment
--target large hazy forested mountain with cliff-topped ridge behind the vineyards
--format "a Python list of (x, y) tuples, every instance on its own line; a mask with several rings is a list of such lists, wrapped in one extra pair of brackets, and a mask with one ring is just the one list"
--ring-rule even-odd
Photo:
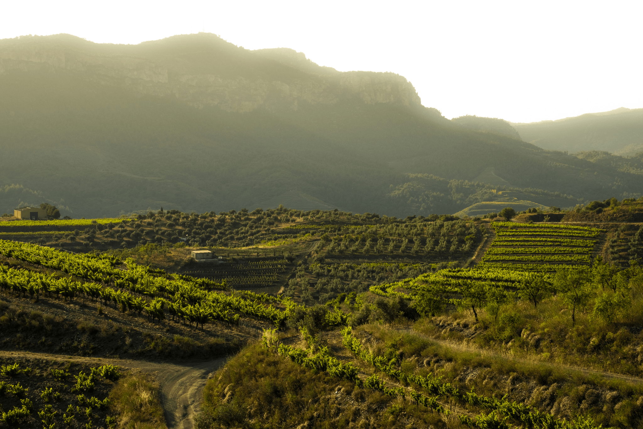
[[(445, 184), (489, 168), (512, 187), (575, 200), (643, 188), (614, 165), (460, 127), (394, 73), (340, 73), (205, 33), (136, 46), (0, 41), (0, 129), (10, 148), (0, 184), (64, 201), (78, 217), (253, 209), (291, 191), (320, 201), (307, 208), (455, 213), (480, 202), (485, 185)], [(437, 178), (422, 184), (435, 196), (428, 205), (403, 195), (417, 181), (407, 174)]]

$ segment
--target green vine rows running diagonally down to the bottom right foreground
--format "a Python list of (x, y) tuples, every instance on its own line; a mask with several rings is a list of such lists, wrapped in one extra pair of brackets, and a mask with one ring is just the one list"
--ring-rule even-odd
[[(354, 363), (341, 363), (329, 353), (328, 347), (320, 347), (318, 338), (311, 335), (306, 327), (301, 327), (300, 332), (308, 346), (305, 349), (281, 343), (278, 340), (276, 329), (264, 330), (262, 347), (302, 367), (316, 371), (323, 370), (329, 376), (350, 380), (356, 383), (356, 388), (379, 390), (386, 396), (402, 400), (408, 397), (411, 403), (421, 405), (431, 413), (437, 412), (444, 416), (455, 413), (460, 423), (466, 426), (480, 429), (509, 429), (511, 424), (527, 424), (534, 428), (553, 429), (601, 427), (601, 425), (595, 424), (591, 417), (579, 415), (572, 421), (566, 421), (541, 412), (530, 405), (509, 401), (506, 399), (507, 395), (498, 399), (498, 397), (478, 395), (473, 392), (473, 389), (462, 390), (453, 383), (442, 381), (442, 376), (434, 375), (431, 372), (424, 376), (417, 374), (417, 372), (404, 372), (400, 369), (400, 355), (394, 345), (389, 347), (388, 354), (390, 356), (373, 354), (370, 347), (364, 347), (358, 338), (353, 336), (350, 327), (344, 327), (341, 330), (343, 345), (361, 363), (370, 366), (374, 372), (371, 376), (364, 376), (361, 374), (361, 369)], [(389, 379), (394, 379), (401, 385), (385, 381), (377, 372), (384, 374)], [(392, 387), (390, 387), (391, 384), (393, 384)], [(453, 410), (454, 404), (458, 405), (459, 409)], [(480, 414), (472, 414), (474, 410), (478, 410)]]

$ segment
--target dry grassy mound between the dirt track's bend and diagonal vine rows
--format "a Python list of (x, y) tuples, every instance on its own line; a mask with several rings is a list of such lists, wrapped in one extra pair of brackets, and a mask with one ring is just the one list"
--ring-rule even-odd
[[(289, 338), (297, 341), (294, 332)], [(286, 340), (284, 336), (280, 336)], [(203, 390), (196, 429), (432, 428), (442, 416), (355, 382), (310, 370), (254, 343), (231, 358)], [(459, 421), (449, 428), (460, 429)]]

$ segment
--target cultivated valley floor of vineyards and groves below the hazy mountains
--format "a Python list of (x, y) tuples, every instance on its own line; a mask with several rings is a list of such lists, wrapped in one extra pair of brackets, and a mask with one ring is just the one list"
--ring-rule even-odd
[[(643, 203), (516, 221), (280, 206), (2, 222), (0, 356), (31, 369), (2, 376), (3, 412), (17, 410), (3, 419), (637, 427), (643, 227), (529, 220), (601, 206), (635, 217)], [(81, 372), (105, 405), (84, 405)], [(17, 381), (29, 390), (10, 393)]]

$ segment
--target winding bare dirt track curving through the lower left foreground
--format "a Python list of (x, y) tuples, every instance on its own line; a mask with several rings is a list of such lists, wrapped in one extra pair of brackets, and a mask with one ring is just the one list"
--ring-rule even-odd
[(83, 358), (60, 354), (0, 351), (6, 358), (45, 359), (77, 361), (91, 365), (111, 363), (124, 368), (135, 368), (153, 374), (159, 382), (161, 405), (165, 410), (165, 420), (170, 429), (192, 429), (194, 417), (201, 405), (201, 392), (208, 376), (219, 369), (228, 358), (208, 361), (186, 361), (185, 363), (163, 363), (144, 360), (124, 360), (107, 358)]

